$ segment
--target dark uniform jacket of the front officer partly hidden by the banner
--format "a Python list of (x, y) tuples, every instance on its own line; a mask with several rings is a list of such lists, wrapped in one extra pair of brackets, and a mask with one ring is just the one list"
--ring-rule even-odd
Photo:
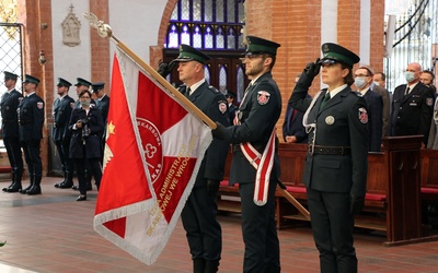
[[(186, 93), (186, 91), (184, 91)], [(217, 88), (204, 82), (188, 99), (212, 121), (229, 124), (226, 96)], [(204, 156), (196, 177), (195, 187), (205, 185), (206, 179), (222, 180), (228, 154), (228, 143), (214, 139)]]

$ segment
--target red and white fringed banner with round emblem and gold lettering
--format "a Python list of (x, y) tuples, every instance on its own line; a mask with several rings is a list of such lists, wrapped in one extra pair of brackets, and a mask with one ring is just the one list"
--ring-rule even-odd
[(152, 264), (210, 142), (210, 129), (117, 49), (94, 229)]

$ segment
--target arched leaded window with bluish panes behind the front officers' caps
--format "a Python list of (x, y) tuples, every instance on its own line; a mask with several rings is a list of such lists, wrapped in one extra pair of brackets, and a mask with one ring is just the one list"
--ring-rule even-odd
[[(176, 58), (181, 44), (191, 45), (212, 58), (206, 79), (221, 92), (230, 90), (241, 100), (245, 82), (239, 57), (244, 52), (244, 0), (180, 0), (172, 12), (164, 41), (164, 61)], [(178, 82), (176, 71), (170, 76)]]

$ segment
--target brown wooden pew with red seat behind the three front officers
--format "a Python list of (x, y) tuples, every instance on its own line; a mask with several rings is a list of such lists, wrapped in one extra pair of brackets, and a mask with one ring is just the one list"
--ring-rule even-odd
[[(355, 226), (385, 232), (385, 246), (425, 240), (429, 235), (423, 230), (420, 221), (420, 141), (419, 135), (385, 138), (384, 152), (369, 153), (365, 213), (356, 216)], [(307, 145), (280, 143), (278, 152), (281, 181), (288, 192), (306, 206), (306, 187), (301, 177)], [(229, 174), (231, 157), (230, 153), (226, 174)], [(438, 157), (434, 164), (438, 165)], [(219, 210), (240, 212), (239, 189), (223, 181), (219, 189)], [(306, 221), (278, 191), (276, 218), (278, 228), (290, 226), (290, 221)]]

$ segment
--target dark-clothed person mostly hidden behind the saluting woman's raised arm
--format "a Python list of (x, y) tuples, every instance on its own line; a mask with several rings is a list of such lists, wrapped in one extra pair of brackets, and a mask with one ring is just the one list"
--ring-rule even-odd
[[(295, 79), (297, 84), (301, 74)], [(309, 96), (310, 98), (310, 96)], [(285, 122), (283, 123), (283, 139), (286, 143), (307, 143), (308, 133), (302, 124), (304, 112), (295, 109), (290, 104), (287, 106)]]

